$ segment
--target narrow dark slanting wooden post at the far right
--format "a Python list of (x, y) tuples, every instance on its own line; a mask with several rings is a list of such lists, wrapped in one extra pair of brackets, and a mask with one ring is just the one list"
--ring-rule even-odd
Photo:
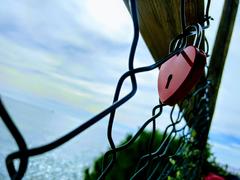
[(238, 10), (239, 0), (225, 0), (220, 25), (218, 28), (216, 40), (214, 43), (211, 60), (208, 69), (207, 79), (211, 82), (209, 96), (209, 122), (205, 139), (203, 139), (203, 147), (206, 145), (208, 133), (211, 126), (211, 121), (214, 114), (214, 109), (217, 101), (218, 90), (221, 84), (222, 74), (224, 70), (225, 60), (228, 53), (229, 44), (231, 41), (232, 31), (236, 14)]

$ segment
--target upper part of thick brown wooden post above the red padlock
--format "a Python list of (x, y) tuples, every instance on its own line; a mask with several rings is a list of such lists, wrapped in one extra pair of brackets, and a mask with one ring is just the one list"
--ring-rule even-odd
[[(129, 9), (129, 0), (123, 0)], [(180, 0), (136, 0), (142, 37), (155, 61), (168, 54), (171, 40), (181, 33)], [(204, 0), (185, 0), (187, 24), (203, 20)]]

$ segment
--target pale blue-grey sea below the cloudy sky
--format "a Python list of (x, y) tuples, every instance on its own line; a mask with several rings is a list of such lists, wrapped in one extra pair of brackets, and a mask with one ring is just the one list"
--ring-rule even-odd
[[(79, 114), (74, 114), (63, 109), (49, 109), (14, 97), (4, 96), (2, 99), (29, 148), (49, 143), (93, 116), (93, 114), (81, 111)], [(133, 133), (133, 129), (124, 123), (117, 122), (115, 126), (113, 134), (116, 144), (120, 143), (128, 133)], [(231, 148), (229, 150), (226, 146), (218, 143), (217, 139), (219, 138), (214, 134), (210, 134), (210, 136), (212, 139), (210, 142), (215, 144), (212, 147), (213, 152), (217, 159), (222, 159), (222, 165), (225, 165), (224, 158), (231, 159), (231, 155), (237, 156), (238, 152), (232, 151)], [(23, 179), (83, 179), (84, 169), (92, 167), (93, 161), (108, 149), (109, 144), (106, 137), (107, 119), (103, 119), (59, 148), (31, 157)], [(0, 180), (10, 179), (5, 167), (5, 158), (16, 150), (14, 139), (0, 121)], [(240, 172), (236, 162), (228, 165), (231, 172)], [(17, 167), (18, 162), (15, 162), (15, 165)]]

